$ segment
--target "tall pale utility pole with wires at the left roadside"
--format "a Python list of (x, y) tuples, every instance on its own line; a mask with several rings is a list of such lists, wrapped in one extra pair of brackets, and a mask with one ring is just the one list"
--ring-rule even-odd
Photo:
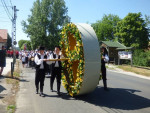
[(16, 62), (16, 19), (17, 19), (17, 11), (16, 6), (13, 7), (14, 9), (14, 17), (12, 18), (12, 50), (13, 50), (13, 62), (11, 63), (11, 75), (13, 77), (13, 71), (14, 71), (14, 64)]

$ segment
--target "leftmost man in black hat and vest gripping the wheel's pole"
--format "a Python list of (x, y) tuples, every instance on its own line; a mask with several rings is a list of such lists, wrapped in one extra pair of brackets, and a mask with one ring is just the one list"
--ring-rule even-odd
[(44, 54), (44, 47), (39, 47), (39, 54), (36, 54), (35, 56), (35, 86), (36, 86), (36, 94), (38, 94), (39, 91), (39, 83), (40, 83), (40, 96), (44, 97), (43, 94), (43, 87), (44, 87), (44, 80), (45, 80), (45, 71), (46, 71), (46, 61), (47, 56)]

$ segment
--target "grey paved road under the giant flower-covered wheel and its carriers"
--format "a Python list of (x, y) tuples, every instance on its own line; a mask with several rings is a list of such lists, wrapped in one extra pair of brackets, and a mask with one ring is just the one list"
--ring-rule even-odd
[(100, 81), (92, 93), (72, 98), (63, 87), (61, 97), (50, 92), (46, 78), (43, 98), (35, 94), (34, 71), (22, 71), (16, 113), (150, 113), (150, 80), (108, 71), (109, 92)]

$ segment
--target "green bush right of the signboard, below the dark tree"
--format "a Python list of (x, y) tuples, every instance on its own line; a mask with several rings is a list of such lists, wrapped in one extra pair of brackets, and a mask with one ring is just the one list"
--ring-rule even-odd
[(150, 66), (150, 51), (135, 50), (133, 52), (133, 64), (137, 66)]

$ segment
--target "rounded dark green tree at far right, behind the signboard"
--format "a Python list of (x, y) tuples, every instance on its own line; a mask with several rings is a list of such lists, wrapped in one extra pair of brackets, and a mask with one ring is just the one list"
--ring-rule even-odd
[(123, 20), (118, 22), (115, 36), (120, 43), (137, 49), (148, 47), (147, 24), (141, 16), (141, 13), (129, 13)]

